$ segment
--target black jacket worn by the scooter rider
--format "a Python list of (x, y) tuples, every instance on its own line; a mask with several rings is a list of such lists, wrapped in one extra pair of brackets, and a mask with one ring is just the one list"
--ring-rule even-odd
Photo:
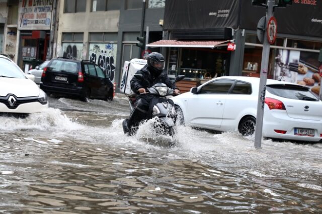
[(142, 81), (137, 79), (135, 76), (131, 79), (131, 89), (134, 93), (137, 93), (139, 88), (148, 88), (153, 86), (155, 83), (165, 83), (168, 87), (176, 89), (176, 83), (171, 81), (168, 77), (167, 72), (164, 70), (158, 76), (153, 77), (150, 71), (145, 65), (141, 70), (138, 70), (136, 74), (142, 74), (144, 79), (147, 81)]

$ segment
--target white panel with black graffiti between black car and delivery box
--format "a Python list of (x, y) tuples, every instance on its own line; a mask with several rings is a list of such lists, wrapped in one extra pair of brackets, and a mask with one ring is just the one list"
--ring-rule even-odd
[(89, 51), (89, 60), (95, 62), (102, 68), (104, 73), (114, 81), (115, 60), (117, 44), (113, 43), (91, 43)]

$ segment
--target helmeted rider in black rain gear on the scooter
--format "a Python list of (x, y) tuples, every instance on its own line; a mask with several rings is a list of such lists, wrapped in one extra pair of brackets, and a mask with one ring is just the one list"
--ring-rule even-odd
[(168, 87), (174, 89), (174, 94), (180, 93), (176, 83), (169, 79), (167, 71), (164, 70), (165, 58), (162, 54), (152, 52), (147, 56), (146, 60), (147, 65), (136, 72), (136, 74), (142, 74), (144, 79), (139, 80), (133, 77), (130, 81), (132, 91), (138, 92), (141, 95), (137, 96), (135, 108), (127, 121), (129, 129), (137, 127), (142, 120), (148, 119), (149, 103), (153, 96), (145, 94), (146, 88), (151, 87), (155, 83), (165, 83)]

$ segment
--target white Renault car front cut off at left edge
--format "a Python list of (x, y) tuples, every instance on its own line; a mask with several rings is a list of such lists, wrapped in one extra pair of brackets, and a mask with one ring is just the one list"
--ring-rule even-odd
[[(31, 79), (29, 79), (29, 78)], [(0, 55), (0, 113), (29, 114), (48, 108), (47, 96), (8, 57)]]

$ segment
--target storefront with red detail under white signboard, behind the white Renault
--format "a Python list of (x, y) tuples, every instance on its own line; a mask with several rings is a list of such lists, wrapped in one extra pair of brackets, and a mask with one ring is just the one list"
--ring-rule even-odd
[(52, 0), (19, 2), (17, 64), (25, 72), (49, 59)]

